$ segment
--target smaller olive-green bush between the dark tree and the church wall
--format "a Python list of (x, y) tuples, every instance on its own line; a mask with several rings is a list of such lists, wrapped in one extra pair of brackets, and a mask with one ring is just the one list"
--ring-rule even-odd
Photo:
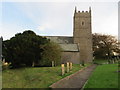
[(41, 66), (52, 66), (52, 61), (55, 65), (59, 65), (61, 62), (61, 48), (58, 44), (50, 42), (44, 45), (44, 51), (42, 52)]

